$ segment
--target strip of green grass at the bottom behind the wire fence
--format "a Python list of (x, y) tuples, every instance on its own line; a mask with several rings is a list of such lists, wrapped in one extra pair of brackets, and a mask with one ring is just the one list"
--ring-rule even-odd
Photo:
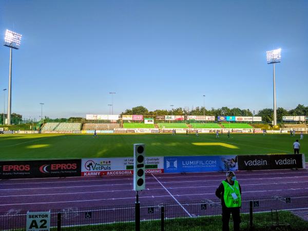
[[(276, 216), (276, 214), (275, 214)], [(288, 223), (291, 225), (291, 229), (275, 229), (275, 230), (294, 230), (294, 231), (303, 231), (308, 230), (308, 222), (300, 219), (299, 217), (293, 215), (290, 211), (279, 211), (278, 212), (280, 223)], [(232, 221), (232, 219), (230, 219)], [(241, 215), (241, 230), (248, 230), (249, 226), (249, 216), (248, 214)], [(274, 221), (276, 222), (276, 221)], [(270, 230), (270, 226), (275, 224), (272, 221), (271, 213), (261, 213), (254, 214), (254, 224), (255, 231), (265, 231)], [(141, 230), (161, 230), (160, 220), (155, 221), (142, 221)], [(201, 231), (201, 230), (210, 230), (210, 231), (219, 231), (221, 230), (221, 216), (208, 216), (208, 217), (197, 217), (197, 218), (176, 218), (165, 220), (165, 230), (168, 231)], [(233, 230), (233, 224), (230, 222), (230, 230)], [(134, 222), (119, 222), (112, 224), (104, 225), (89, 225), (89, 226), (79, 226), (79, 227), (63, 227), (61, 230), (64, 231), (73, 231), (73, 230), (91, 230), (91, 231), (133, 231)], [(53, 229), (55, 230), (55, 229)], [(272, 229), (273, 230), (273, 229)]]

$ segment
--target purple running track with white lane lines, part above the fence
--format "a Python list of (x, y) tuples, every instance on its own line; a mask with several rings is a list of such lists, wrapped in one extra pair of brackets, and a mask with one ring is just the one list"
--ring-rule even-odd
[[(308, 171), (238, 171), (242, 198), (308, 195)], [(215, 199), (225, 174), (155, 174), (146, 177), (141, 203)], [(132, 176), (14, 179), (0, 181), (0, 213), (98, 206), (133, 205)]]

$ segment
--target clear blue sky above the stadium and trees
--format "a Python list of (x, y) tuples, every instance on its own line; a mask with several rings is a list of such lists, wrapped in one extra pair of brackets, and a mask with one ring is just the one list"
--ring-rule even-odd
[[(308, 1), (12, 1), (0, 6), (0, 36), (13, 50), (12, 112), (85, 117), (143, 105), (273, 107), (266, 50), (282, 48), (277, 106), (308, 104)], [(9, 49), (0, 47), (0, 87)], [(3, 92), (0, 94), (0, 112)], [(7, 105), (7, 95), (6, 95)]]

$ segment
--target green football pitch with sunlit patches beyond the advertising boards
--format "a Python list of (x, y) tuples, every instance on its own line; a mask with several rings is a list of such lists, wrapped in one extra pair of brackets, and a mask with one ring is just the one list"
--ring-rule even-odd
[[(299, 134), (2, 134), (0, 159), (132, 157), (133, 144), (146, 145), (147, 156), (203, 156), (293, 153)], [(308, 152), (307, 135), (300, 153)], [(306, 157), (306, 160), (308, 158)]]

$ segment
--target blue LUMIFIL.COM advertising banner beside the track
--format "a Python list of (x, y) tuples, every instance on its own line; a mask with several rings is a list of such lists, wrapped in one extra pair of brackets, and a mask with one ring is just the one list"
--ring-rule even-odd
[(164, 172), (238, 170), (237, 156), (165, 157)]

